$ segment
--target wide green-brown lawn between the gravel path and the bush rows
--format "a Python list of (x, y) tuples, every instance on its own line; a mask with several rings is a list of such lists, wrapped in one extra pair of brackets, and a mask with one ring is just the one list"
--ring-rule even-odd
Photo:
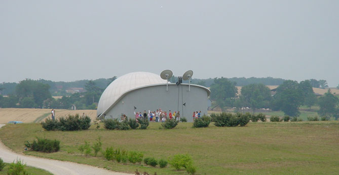
[[(102, 123), (100, 123), (102, 124)], [(56, 153), (26, 151), (25, 154), (90, 164), (115, 171), (149, 174), (187, 174), (184, 170), (156, 168), (144, 164), (106, 161), (102, 154), (85, 156), (78, 146), (91, 145), (101, 136), (103, 148), (113, 146), (140, 151), (144, 157), (168, 158), (174, 154), (191, 154), (197, 174), (337, 174), (339, 172), (339, 122), (258, 122), (245, 127), (192, 128), (179, 123), (174, 129), (159, 129), (150, 123), (146, 130), (95, 129), (75, 132), (45, 131), (40, 124), (6, 125), (0, 138), (16, 152), (24, 141), (35, 137), (60, 140)], [(102, 125), (101, 125), (102, 128)]]

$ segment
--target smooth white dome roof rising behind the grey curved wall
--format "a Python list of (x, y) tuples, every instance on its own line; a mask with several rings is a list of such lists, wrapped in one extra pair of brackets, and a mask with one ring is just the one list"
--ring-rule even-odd
[(111, 82), (102, 93), (97, 109), (97, 116), (114, 104), (127, 91), (145, 85), (166, 83), (160, 75), (149, 72), (131, 72)]

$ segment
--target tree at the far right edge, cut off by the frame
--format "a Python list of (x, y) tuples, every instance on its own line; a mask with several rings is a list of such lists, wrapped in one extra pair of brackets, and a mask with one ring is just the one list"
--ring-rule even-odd
[(323, 97), (320, 97), (318, 100), (319, 104), (319, 111), (318, 114), (321, 116), (333, 116), (337, 112), (337, 104), (339, 100), (337, 97), (335, 97), (330, 90), (327, 91), (327, 93), (324, 94)]

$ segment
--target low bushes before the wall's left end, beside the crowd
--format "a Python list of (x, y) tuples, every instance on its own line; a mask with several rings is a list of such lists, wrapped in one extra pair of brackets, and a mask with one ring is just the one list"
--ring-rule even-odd
[[(119, 129), (119, 130), (128, 130), (128, 129), (146, 129), (149, 125), (149, 121), (147, 119), (138, 118), (136, 119), (126, 119), (124, 121), (119, 121), (118, 119), (105, 119), (104, 128), (106, 129)], [(140, 126), (140, 127), (139, 127)]]

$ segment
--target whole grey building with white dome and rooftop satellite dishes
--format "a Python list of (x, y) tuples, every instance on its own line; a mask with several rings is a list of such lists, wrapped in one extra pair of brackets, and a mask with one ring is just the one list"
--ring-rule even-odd
[[(169, 71), (169, 70), (166, 70)], [(193, 121), (193, 111), (207, 114), (210, 90), (204, 86), (189, 83), (168, 83), (172, 72), (162, 76), (149, 72), (132, 72), (112, 81), (102, 93), (97, 109), (98, 118), (120, 118), (125, 114), (134, 118), (135, 112), (180, 111), (180, 117)], [(189, 71), (187, 71), (189, 72)], [(187, 73), (186, 72), (186, 73)], [(191, 71), (192, 72), (192, 71)], [(185, 75), (182, 79), (190, 78)]]

